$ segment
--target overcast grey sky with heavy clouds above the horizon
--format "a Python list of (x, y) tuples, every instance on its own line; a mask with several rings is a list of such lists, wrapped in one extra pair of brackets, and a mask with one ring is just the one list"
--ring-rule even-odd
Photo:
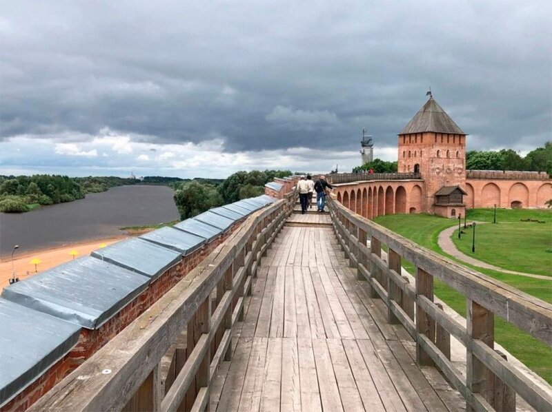
[(225, 177), (552, 139), (551, 1), (0, 1), (0, 174)]

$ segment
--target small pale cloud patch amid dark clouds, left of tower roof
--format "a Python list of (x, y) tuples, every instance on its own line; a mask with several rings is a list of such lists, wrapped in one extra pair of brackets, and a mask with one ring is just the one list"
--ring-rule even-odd
[(266, 121), (292, 130), (328, 129), (339, 125), (337, 115), (328, 110), (295, 110), (291, 106), (277, 105), (266, 115)]

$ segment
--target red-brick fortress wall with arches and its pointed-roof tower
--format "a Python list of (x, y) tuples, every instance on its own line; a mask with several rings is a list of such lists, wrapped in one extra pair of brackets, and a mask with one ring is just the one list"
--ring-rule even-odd
[[(398, 134), (398, 173), (411, 175), (336, 185), (339, 202), (366, 218), (420, 212), (455, 218), (475, 207), (546, 207), (552, 182), (545, 172), (466, 170), (467, 134), (428, 95)], [(361, 144), (362, 162), (371, 161), (372, 139), (364, 130)]]

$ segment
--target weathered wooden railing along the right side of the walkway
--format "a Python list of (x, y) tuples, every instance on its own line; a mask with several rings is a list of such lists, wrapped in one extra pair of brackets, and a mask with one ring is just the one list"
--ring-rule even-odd
[[(402, 324), (415, 340), (417, 362), (438, 367), (468, 410), (513, 410), (517, 393), (536, 410), (552, 411), (552, 387), (535, 383), (493, 348), (495, 315), (551, 345), (551, 305), (424, 249), (337, 200), (328, 205), (335, 235), (359, 279), (368, 281), (373, 298), (385, 302), (388, 321)], [(402, 258), (416, 267), (415, 287), (402, 276)], [(433, 302), (434, 278), (466, 297), (467, 327)], [(451, 362), (450, 336), (466, 347), (465, 378)]]

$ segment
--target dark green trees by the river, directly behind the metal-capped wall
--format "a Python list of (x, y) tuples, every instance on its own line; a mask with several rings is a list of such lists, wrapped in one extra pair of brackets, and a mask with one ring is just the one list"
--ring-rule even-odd
[(184, 220), (206, 212), (211, 207), (259, 196), (264, 193), (266, 183), (275, 177), (283, 178), (292, 174), (290, 170), (253, 170), (231, 174), (221, 183), (184, 182), (175, 191), (175, 204), (180, 218)]

